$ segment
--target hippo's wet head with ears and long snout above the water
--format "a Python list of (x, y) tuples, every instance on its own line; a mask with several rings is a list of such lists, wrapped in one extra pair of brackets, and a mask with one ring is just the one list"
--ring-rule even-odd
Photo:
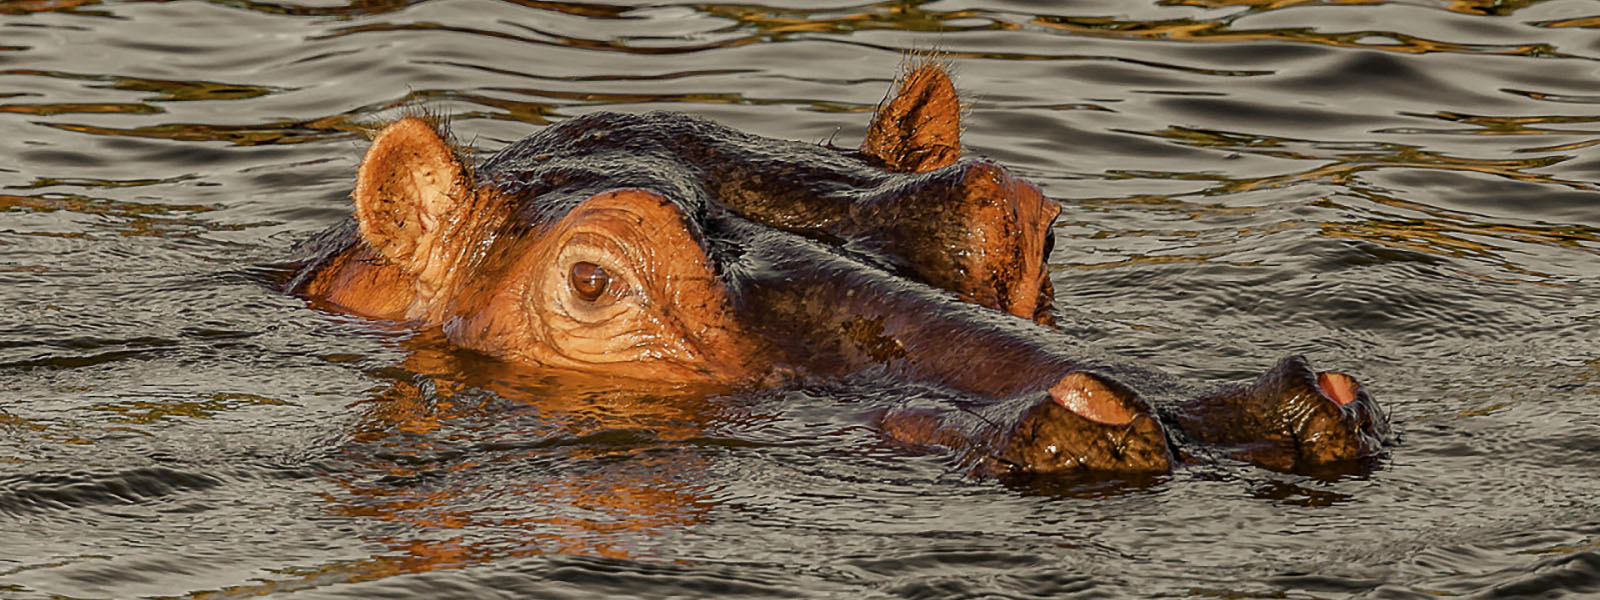
[(928, 66), (859, 150), (595, 114), (477, 168), (405, 118), (362, 162), (357, 226), (318, 238), (291, 286), (509, 363), (642, 387), (779, 371), (944, 386), (965, 400), (883, 406), (878, 426), (970, 450), (990, 474), (1165, 472), (1189, 442), (1278, 470), (1376, 454), (1387, 424), (1346, 374), (1291, 357), (1203, 392), (1050, 326), (1061, 208), (958, 160), (958, 109)]

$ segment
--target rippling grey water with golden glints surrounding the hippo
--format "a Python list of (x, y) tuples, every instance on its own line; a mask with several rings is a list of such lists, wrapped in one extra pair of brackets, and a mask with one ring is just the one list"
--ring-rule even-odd
[[(1600, 592), (1600, 5), (0, 0), (0, 597)], [(1302, 352), (1365, 477), (1019, 488), (840, 381), (640, 398), (270, 290), (362, 131), (672, 109), (854, 144), (907, 50), (1066, 206), (1062, 328)]]

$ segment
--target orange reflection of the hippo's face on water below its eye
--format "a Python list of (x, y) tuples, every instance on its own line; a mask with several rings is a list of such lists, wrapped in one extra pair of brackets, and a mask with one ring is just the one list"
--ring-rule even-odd
[[(365, 413), (344, 453), (354, 469), (328, 474), (339, 491), (325, 494), (326, 509), (339, 517), (405, 523), (405, 533), (366, 536), (384, 547), (370, 558), (282, 570), (288, 579), (190, 597), (266, 595), (546, 554), (646, 558), (651, 552), (640, 541), (691, 526), (715, 506), (702, 483), (685, 477), (709, 469), (707, 458), (682, 448), (712, 419), (706, 390), (619, 392), (634, 386), (514, 368), (456, 350), (437, 333), (419, 333), (405, 346), (406, 362), (386, 370), (398, 378), (384, 378), (358, 403)], [(467, 422), (506, 418), (504, 402), (467, 394), (480, 390), (536, 410), (547, 434), (496, 438), (507, 434), (470, 429)], [(507, 450), (438, 458), (440, 443)], [(526, 480), (494, 480), (493, 488), (394, 483), (528, 461), (581, 469), (541, 469)]]

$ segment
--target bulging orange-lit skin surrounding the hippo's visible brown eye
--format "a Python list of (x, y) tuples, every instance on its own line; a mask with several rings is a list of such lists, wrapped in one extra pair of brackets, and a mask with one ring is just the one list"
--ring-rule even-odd
[[(614, 302), (643, 299), (632, 307), (642, 317), (629, 325), (632, 349), (576, 355), (550, 325), (562, 304), (579, 299), (542, 294), (565, 288), (568, 272), (541, 269), (563, 264), (560, 251), (586, 230), (603, 230), (619, 254), (646, 267), (635, 270), (629, 290), (613, 280)], [(480, 267), (456, 291), (448, 314), (461, 315), (445, 331), (458, 344), (525, 365), (571, 368), (662, 382), (741, 382), (770, 368), (754, 336), (728, 314), (728, 298), (699, 243), (688, 234), (672, 203), (643, 190), (618, 190), (589, 198), (533, 240), (515, 240), (501, 253), (499, 267)], [(482, 277), (480, 274), (488, 274)], [(541, 274), (542, 277), (517, 277)], [(613, 274), (618, 277), (621, 274)], [(613, 331), (605, 331), (611, 334)], [(621, 336), (621, 334), (619, 334)]]

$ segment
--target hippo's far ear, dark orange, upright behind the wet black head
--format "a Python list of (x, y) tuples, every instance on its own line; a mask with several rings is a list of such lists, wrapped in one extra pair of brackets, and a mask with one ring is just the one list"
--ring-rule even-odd
[(906, 173), (955, 163), (962, 154), (962, 102), (944, 67), (925, 64), (901, 77), (894, 99), (872, 117), (861, 154)]

